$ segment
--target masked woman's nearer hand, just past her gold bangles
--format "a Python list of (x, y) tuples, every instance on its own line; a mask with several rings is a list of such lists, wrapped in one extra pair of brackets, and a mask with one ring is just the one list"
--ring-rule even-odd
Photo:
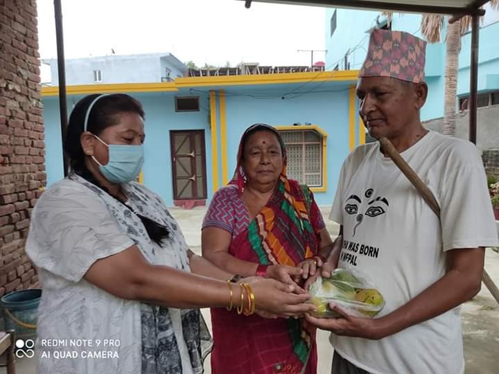
[(267, 318), (287, 318), (315, 310), (315, 305), (307, 303), (310, 300), (310, 295), (303, 292), (297, 294), (296, 288), (298, 286), (296, 285), (285, 285), (274, 279), (260, 276), (244, 278), (241, 282), (251, 285), (256, 309), (259, 312), (264, 312)]

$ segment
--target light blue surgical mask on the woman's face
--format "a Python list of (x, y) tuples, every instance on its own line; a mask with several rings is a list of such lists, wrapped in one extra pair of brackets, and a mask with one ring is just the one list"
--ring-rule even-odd
[(128, 183), (136, 179), (143, 166), (143, 145), (107, 144), (94, 135), (109, 151), (109, 161), (102, 165), (92, 156), (102, 175), (115, 184)]

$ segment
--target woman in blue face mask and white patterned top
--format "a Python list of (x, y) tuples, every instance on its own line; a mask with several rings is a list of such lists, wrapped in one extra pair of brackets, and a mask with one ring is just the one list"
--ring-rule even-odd
[(125, 94), (87, 96), (71, 113), (71, 172), (37, 202), (26, 243), (43, 288), (37, 373), (201, 373), (211, 339), (198, 308), (312, 309), (277, 281), (227, 283), (234, 274), (189, 251), (164, 202), (132, 182), (143, 118)]

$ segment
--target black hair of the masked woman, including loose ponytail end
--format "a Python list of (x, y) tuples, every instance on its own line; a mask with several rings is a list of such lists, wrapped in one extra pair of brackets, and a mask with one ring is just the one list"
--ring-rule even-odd
[[(85, 96), (85, 98), (82, 98), (76, 103), (71, 112), (71, 116), (69, 116), (66, 138), (64, 139), (64, 152), (67, 154), (67, 157), (69, 157), (69, 164), (73, 172), (109, 193), (104, 186), (99, 184), (97, 179), (85, 165), (86, 156), (80, 141), (81, 135), (84, 132), (83, 126), (87, 110), (98, 96), (100, 96), (100, 94)], [(87, 121), (87, 131), (99, 136), (107, 127), (117, 125), (120, 121), (120, 116), (123, 113), (136, 113), (139, 114), (141, 118), (145, 117), (141, 103), (139, 100), (132, 98), (132, 96), (126, 94), (110, 94), (103, 96), (94, 103), (93, 107), (91, 107), (91, 112), (89, 113)], [(126, 206), (123, 202), (121, 202), (121, 204)], [(158, 224), (143, 215), (137, 215), (141, 219), (149, 238), (153, 242), (161, 244), (164, 239), (168, 238), (169, 231), (166, 226)]]

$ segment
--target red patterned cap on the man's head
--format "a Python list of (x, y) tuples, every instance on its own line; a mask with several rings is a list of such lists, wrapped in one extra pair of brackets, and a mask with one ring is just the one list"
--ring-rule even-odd
[(374, 29), (359, 77), (392, 77), (425, 81), (426, 42), (403, 31)]

